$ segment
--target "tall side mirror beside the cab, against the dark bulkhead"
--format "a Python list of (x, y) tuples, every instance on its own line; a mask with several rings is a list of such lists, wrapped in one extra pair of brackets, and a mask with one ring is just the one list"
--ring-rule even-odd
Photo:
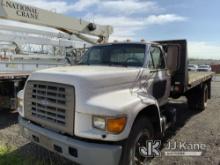
[(171, 74), (174, 74), (178, 69), (179, 47), (177, 45), (167, 46), (167, 67)]

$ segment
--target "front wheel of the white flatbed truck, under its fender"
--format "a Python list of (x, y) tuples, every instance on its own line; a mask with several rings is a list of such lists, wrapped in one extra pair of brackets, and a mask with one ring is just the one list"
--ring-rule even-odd
[(146, 141), (150, 139), (149, 132), (144, 130), (140, 132), (135, 139), (133, 147), (130, 152), (130, 165), (146, 165), (147, 158), (140, 154), (139, 148), (146, 147)]

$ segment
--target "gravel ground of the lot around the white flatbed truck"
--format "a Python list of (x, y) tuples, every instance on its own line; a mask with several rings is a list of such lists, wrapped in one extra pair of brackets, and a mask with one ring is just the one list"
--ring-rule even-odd
[[(216, 81), (217, 80), (217, 81)], [(162, 157), (151, 161), (155, 164), (215, 164), (220, 165), (220, 80), (216, 79), (212, 84), (212, 99), (208, 102), (208, 108), (196, 113), (187, 108), (186, 100), (175, 100), (177, 109), (177, 124), (167, 132), (162, 148)], [(71, 165), (73, 163), (60, 156), (48, 152), (36, 146), (19, 134), (17, 113), (0, 111), (0, 145), (15, 148), (15, 153), (24, 157), (33, 157), (35, 160), (43, 160), (45, 165)], [(190, 142), (206, 144), (207, 149), (201, 157), (167, 157), (163, 156), (168, 142)], [(33, 165), (37, 165), (35, 161)]]

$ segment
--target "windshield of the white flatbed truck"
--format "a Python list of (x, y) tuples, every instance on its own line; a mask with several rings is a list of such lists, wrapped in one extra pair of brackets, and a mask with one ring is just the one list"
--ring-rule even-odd
[(145, 59), (144, 44), (112, 44), (91, 47), (79, 64), (141, 67)]

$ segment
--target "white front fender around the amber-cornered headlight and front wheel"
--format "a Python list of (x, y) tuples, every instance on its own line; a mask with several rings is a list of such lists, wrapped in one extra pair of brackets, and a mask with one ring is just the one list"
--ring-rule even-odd
[[(153, 119), (157, 131), (160, 133), (162, 132), (158, 102), (153, 96), (148, 95), (147, 93), (131, 93), (129, 89), (113, 91), (94, 96), (87, 100), (86, 104), (84, 103), (79, 107), (83, 108), (83, 111), (80, 111), (80, 108), (77, 110), (77, 121), (75, 125), (77, 130), (75, 134), (80, 137), (88, 138), (89, 130), (88, 125), (85, 125), (85, 120), (88, 121), (89, 116), (93, 114), (100, 116), (127, 116), (127, 124), (122, 133), (117, 135), (107, 134), (106, 139), (103, 139), (100, 136), (103, 132), (96, 132), (96, 134), (93, 134), (92, 137), (94, 139), (104, 141), (121, 141), (127, 139), (135, 120), (137, 120), (139, 115), (142, 114), (149, 115), (147, 117), (149, 117), (149, 119)], [(84, 128), (83, 125), (85, 126)]]

